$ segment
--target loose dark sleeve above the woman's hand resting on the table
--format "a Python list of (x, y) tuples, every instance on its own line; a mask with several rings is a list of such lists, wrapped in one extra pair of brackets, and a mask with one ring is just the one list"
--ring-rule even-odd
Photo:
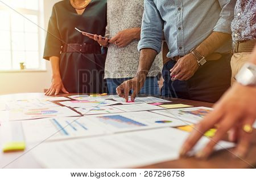
[(43, 58), (49, 60), (49, 58), (52, 56), (60, 57), (61, 45), (62, 43), (60, 38), (60, 32), (57, 28), (56, 10), (53, 6), (52, 15), (49, 19), (47, 29), (46, 44), (44, 46)]

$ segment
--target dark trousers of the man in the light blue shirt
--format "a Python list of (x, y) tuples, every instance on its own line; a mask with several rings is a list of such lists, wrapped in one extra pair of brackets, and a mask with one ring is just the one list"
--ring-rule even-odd
[(216, 102), (230, 87), (231, 56), (225, 54), (217, 61), (208, 61), (187, 81), (171, 81), (170, 69), (176, 61), (168, 61), (163, 67), (162, 96)]

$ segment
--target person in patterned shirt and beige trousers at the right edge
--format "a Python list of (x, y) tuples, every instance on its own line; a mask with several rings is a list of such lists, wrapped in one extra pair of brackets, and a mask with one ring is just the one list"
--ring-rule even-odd
[(238, 0), (231, 24), (234, 42), (234, 54), (231, 59), (232, 79), (236, 82), (236, 74), (243, 64), (250, 59), (256, 45), (256, 1)]

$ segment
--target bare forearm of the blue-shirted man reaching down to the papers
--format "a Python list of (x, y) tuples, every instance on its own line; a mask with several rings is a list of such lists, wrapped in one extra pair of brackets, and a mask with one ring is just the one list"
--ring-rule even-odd
[(141, 50), (139, 57), (139, 66), (136, 76), (147, 76), (148, 71), (150, 70), (152, 63), (155, 60), (157, 52), (150, 48), (145, 48)]

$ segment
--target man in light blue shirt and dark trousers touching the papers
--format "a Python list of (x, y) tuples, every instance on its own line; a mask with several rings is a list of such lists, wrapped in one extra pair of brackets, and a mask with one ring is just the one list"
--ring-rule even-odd
[(117, 88), (118, 95), (127, 98), (126, 92), (133, 89), (134, 100), (160, 52), (164, 29), (171, 61), (163, 67), (162, 95), (216, 102), (230, 87), (235, 4), (234, 0), (145, 0), (138, 71)]

